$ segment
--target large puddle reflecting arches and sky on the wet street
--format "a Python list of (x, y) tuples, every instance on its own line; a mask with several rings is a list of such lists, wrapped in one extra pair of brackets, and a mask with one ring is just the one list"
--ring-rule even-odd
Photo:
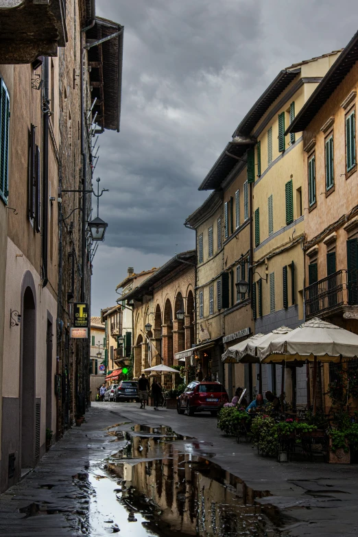
[(211, 462), (210, 443), (139, 425), (125, 438), (89, 476), (91, 536), (281, 535), (276, 518), (255, 504), (270, 492), (255, 492)]

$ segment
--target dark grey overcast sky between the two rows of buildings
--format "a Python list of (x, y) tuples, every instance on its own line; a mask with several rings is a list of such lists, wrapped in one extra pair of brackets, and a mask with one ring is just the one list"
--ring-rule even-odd
[(95, 169), (110, 193), (92, 315), (115, 304), (128, 266), (158, 267), (194, 247), (183, 222), (209, 194), (198, 186), (278, 71), (344, 47), (358, 27), (353, 0), (97, 0), (96, 9), (125, 29), (121, 132), (99, 136)]

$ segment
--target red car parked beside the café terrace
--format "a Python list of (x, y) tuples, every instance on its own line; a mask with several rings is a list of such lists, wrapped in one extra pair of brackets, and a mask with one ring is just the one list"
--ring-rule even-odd
[(176, 409), (178, 414), (186, 410), (188, 416), (193, 416), (194, 412), (210, 412), (211, 416), (216, 416), (225, 403), (228, 403), (228, 394), (222, 384), (193, 381), (179, 396)]

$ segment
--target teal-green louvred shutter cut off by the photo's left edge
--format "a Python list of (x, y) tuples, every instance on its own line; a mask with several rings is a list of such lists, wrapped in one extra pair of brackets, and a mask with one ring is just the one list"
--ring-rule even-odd
[(9, 194), (9, 123), (10, 97), (8, 88), (0, 78), (0, 197), (8, 203)]

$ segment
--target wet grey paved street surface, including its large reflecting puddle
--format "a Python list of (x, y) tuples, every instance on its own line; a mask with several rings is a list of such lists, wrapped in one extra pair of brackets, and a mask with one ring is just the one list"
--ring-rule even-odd
[(94, 403), (1, 495), (0, 535), (353, 536), (357, 484), (357, 466), (258, 457), (210, 415)]

